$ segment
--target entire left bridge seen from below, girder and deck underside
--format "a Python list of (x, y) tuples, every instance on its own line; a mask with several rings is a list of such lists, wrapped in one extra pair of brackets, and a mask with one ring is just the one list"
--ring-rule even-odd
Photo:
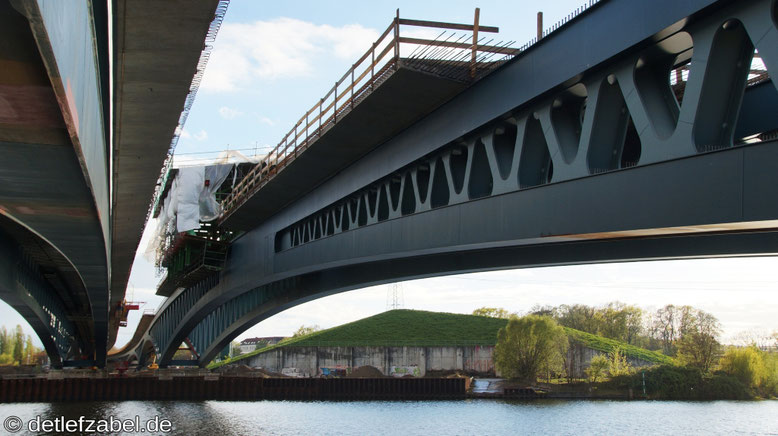
[(225, 10), (225, 0), (0, 1), (0, 297), (54, 365), (105, 363), (149, 199)]

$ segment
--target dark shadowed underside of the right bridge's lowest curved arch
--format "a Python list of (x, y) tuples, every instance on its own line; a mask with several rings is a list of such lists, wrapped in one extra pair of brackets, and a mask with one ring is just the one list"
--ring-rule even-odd
[[(525, 267), (704, 257), (774, 256), (778, 231), (669, 235), (639, 239), (581, 241), (491, 250), (460, 251), (426, 258), (403, 258), (370, 265), (351, 265), (300, 278), (295, 287), (258, 306), (244, 308), (244, 315), (209, 338), (200, 353), (200, 365), (210, 363), (238, 335), (258, 322), (286, 309), (339, 292), (391, 283), (408, 278), (434, 277), (466, 272)], [(190, 334), (200, 333), (200, 326)]]

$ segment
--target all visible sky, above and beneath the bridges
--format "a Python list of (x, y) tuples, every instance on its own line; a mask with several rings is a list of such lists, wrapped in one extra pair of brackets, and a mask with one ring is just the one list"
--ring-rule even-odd
[[(175, 163), (205, 163), (226, 149), (263, 154), (329, 91), (390, 24), (403, 18), (482, 25), (520, 46), (583, 1), (294, 1), (232, 0), (214, 43), (197, 98), (176, 149)], [(404, 33), (407, 32), (407, 33)], [(416, 32), (416, 33), (414, 33)], [(401, 34), (430, 35), (401, 29)], [(154, 223), (149, 226), (154, 227)], [(127, 299), (154, 309), (159, 277), (141, 241)], [(716, 316), (726, 341), (745, 330), (778, 330), (778, 258), (754, 257), (579, 265), (476, 273), (400, 284), (407, 309), (470, 313), (482, 306), (524, 313), (535, 305), (603, 305), (611, 301), (656, 309), (689, 304)], [(250, 328), (239, 339), (286, 336), (301, 325), (333, 327), (383, 312), (389, 286), (354, 290), (309, 302)], [(140, 313), (131, 312), (117, 345), (132, 336)], [(0, 302), (0, 323), (23, 324)]]

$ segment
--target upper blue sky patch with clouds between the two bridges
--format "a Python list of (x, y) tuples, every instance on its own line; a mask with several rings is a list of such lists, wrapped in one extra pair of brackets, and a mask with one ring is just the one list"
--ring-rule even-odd
[[(498, 40), (521, 45), (535, 36), (540, 3), (478, 2), (482, 25)], [(562, 19), (582, 1), (542, 4), (545, 23)], [(233, 0), (214, 44), (178, 161), (205, 151), (275, 146), (391, 23), (403, 18), (472, 23), (469, 1), (255, 2)], [(401, 28), (401, 34), (419, 29)], [(425, 35), (435, 36), (434, 30)], [(491, 37), (491, 35), (489, 35)]]

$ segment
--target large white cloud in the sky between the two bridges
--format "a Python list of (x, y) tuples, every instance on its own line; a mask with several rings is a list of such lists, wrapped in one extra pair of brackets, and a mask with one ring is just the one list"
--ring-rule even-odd
[(201, 89), (238, 91), (256, 79), (307, 76), (314, 58), (356, 60), (377, 38), (377, 31), (358, 24), (334, 27), (292, 18), (225, 23)]

